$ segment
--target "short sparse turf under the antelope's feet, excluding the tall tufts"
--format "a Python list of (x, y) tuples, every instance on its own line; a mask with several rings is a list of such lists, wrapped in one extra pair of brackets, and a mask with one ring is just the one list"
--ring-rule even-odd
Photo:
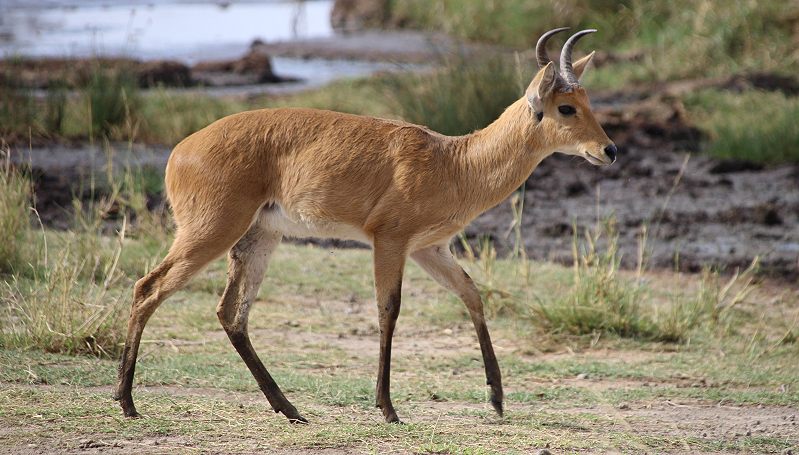
[[(124, 239), (128, 251), (142, 242)], [(415, 265), (406, 274), (392, 374), (394, 401), (408, 423), (382, 424), (372, 397), (377, 335), (370, 262), (363, 250), (283, 245), (261, 290), (264, 301), (253, 308), (253, 343), (311, 425), (290, 426), (274, 415), (227, 341), (214, 314), (224, 284), (224, 264), (217, 261), (148, 324), (135, 390), (143, 419), (120, 418), (110, 399), (114, 359), (0, 349), (6, 446), (74, 450), (92, 441), (143, 452), (529, 453), (549, 446), (566, 453), (726, 453), (779, 452), (799, 442), (790, 428), (747, 436), (749, 424), (733, 420), (746, 412), (768, 424), (769, 413), (778, 413), (789, 422), (799, 404), (794, 343), (752, 356), (737, 335), (691, 345), (603, 338), (593, 346), (559, 340), (550, 345), (553, 353), (543, 354), (536, 348), (551, 340), (530, 334), (530, 321), (509, 312), (490, 321), (507, 391), (507, 416), (497, 419), (486, 403), (463, 305)], [(478, 279), (486, 269), (479, 260), (465, 265)], [(496, 259), (493, 267), (497, 288), (522, 295), (528, 288), (545, 296), (565, 292), (573, 274), (535, 264), (537, 272), (520, 280), (518, 261)], [(650, 279), (653, 295), (673, 288), (690, 294), (697, 284), (692, 277)], [(210, 284), (196, 286), (204, 281)], [(768, 308), (795, 314), (791, 301)], [(741, 305), (759, 308), (749, 299)], [(764, 326), (773, 326), (783, 316), (769, 310), (763, 317)], [(761, 324), (753, 319), (751, 327)], [(585, 379), (576, 379), (581, 374)], [(618, 410), (622, 405), (629, 410)], [(740, 434), (710, 431), (715, 426), (702, 420), (705, 412), (727, 412), (726, 425)], [(666, 417), (654, 423), (653, 415)], [(684, 429), (700, 421), (707, 436)], [(663, 426), (673, 430), (655, 430)]]

